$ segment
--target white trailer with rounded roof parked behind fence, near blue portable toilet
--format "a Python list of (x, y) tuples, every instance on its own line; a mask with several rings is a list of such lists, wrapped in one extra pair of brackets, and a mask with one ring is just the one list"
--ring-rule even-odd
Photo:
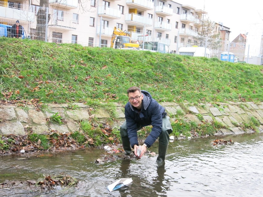
[(179, 48), (179, 55), (210, 58), (210, 50), (205, 47), (181, 47)]

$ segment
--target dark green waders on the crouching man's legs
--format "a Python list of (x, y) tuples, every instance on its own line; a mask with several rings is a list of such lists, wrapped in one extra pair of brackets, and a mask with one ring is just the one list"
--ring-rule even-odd
[[(169, 143), (169, 134), (173, 132), (169, 116), (164, 117), (162, 120), (163, 120), (162, 131), (161, 134), (159, 135), (159, 147), (158, 147), (159, 155), (156, 160), (158, 164), (161, 164), (165, 160), (165, 155)], [(140, 130), (141, 128), (142, 127), (137, 127), (137, 131)], [(131, 143), (128, 137), (126, 121), (120, 127), (120, 134), (121, 134), (121, 139), (122, 139), (122, 144), (125, 154), (129, 155), (131, 154)]]

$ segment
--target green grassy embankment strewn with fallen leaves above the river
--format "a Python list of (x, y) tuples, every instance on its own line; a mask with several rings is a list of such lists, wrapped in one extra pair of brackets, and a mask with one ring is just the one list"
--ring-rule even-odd
[[(132, 85), (147, 90), (157, 101), (181, 105), (263, 99), (263, 68), (252, 64), (7, 38), (0, 38), (0, 48), (0, 100), (23, 103), (24, 109), (31, 99), (42, 110), (45, 103), (68, 103), (72, 109), (73, 102), (85, 102), (108, 109), (114, 119), (112, 102), (124, 105), (126, 89)], [(200, 125), (182, 122), (180, 112), (177, 116), (179, 121), (173, 123), (177, 136), (193, 131), (212, 134), (222, 127), (215, 122), (200, 129)], [(187, 126), (182, 129), (182, 125)], [(202, 131), (207, 126), (211, 128)], [(116, 139), (118, 132), (114, 133)], [(108, 137), (102, 136), (98, 145), (113, 142)]]

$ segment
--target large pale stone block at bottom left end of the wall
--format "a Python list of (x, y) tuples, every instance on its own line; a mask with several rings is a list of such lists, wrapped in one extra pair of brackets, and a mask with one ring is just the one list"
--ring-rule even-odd
[(0, 133), (3, 135), (15, 134), (15, 135), (25, 135), (24, 126), (21, 122), (1, 122), (0, 123)]

